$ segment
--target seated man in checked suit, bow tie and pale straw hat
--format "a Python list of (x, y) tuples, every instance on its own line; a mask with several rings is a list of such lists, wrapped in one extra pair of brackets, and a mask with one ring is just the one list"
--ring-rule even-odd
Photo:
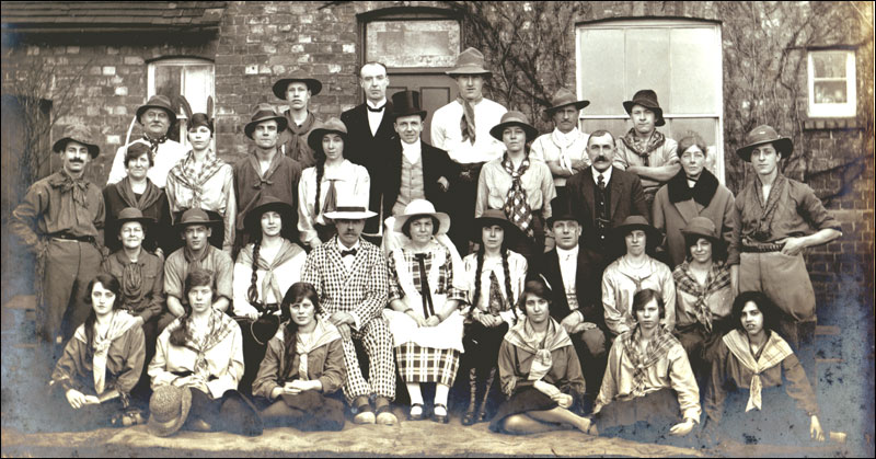
[[(389, 296), (387, 260), (377, 245), (360, 238), (365, 221), (374, 215), (365, 207), (345, 205), (326, 213), (325, 217), (335, 221), (337, 236), (310, 252), (301, 282), (315, 287), (321, 319), (341, 332), (347, 368), (344, 397), (356, 413), (353, 422), (395, 425), (399, 420), (390, 411), (395, 398), (393, 341), (382, 315)], [(368, 381), (362, 377), (354, 340), (368, 354)]]

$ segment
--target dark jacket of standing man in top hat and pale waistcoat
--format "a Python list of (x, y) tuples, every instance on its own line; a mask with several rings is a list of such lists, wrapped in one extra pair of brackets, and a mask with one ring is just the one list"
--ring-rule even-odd
[[(390, 144), (388, 162), (383, 164), (387, 179), (382, 182), (383, 188), (383, 215), (392, 215), (392, 206), (399, 199), (399, 191), (402, 186), (402, 140), (393, 139)], [(450, 160), (447, 151), (433, 147), (420, 140), (420, 151), (423, 157), (423, 193), (426, 199), (435, 206), (438, 211), (448, 211), (451, 203), (448, 199), (449, 193), (441, 190), (438, 179), (457, 176), (459, 173), (456, 162)], [(371, 186), (373, 186), (373, 181)]]

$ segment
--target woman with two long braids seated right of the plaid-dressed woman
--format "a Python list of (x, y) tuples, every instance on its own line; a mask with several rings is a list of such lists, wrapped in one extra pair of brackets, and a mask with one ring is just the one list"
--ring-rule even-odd
[[(527, 259), (508, 249), (523, 238), (498, 209), (485, 210), (474, 220), (472, 239), (480, 248), (462, 260), (462, 284), (468, 291), (462, 344), (469, 368), (469, 408), (463, 425), (487, 421), (486, 404), (496, 376), (496, 362), (505, 333), (522, 312), (515, 307), (527, 276)], [(477, 381), (486, 379), (484, 397), (477, 405)]]

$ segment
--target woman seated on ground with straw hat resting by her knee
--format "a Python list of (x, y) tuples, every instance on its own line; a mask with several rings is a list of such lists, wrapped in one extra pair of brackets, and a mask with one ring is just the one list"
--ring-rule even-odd
[(238, 392), (243, 376), (240, 326), (212, 308), (214, 294), (212, 274), (200, 268), (191, 271), (185, 278), (185, 313), (158, 337), (155, 357), (149, 364), (153, 391), (150, 424), (157, 426), (152, 432), (158, 435), (173, 434), (183, 426), (177, 425), (178, 418), (168, 418), (172, 410), (155, 410), (168, 392), (159, 390), (162, 386), (191, 389), (191, 412), (183, 420), (187, 429), (262, 435), (258, 413)]

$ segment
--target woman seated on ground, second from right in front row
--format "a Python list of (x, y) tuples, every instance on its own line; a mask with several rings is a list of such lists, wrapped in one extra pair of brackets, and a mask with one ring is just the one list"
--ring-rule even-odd
[[(635, 326), (609, 352), (593, 406), (599, 432), (655, 441), (671, 425), (670, 435), (688, 435), (700, 422), (700, 389), (684, 348), (660, 326), (666, 314), (660, 295), (649, 288), (636, 292), (633, 314)], [(675, 424), (679, 412), (683, 421)]]

